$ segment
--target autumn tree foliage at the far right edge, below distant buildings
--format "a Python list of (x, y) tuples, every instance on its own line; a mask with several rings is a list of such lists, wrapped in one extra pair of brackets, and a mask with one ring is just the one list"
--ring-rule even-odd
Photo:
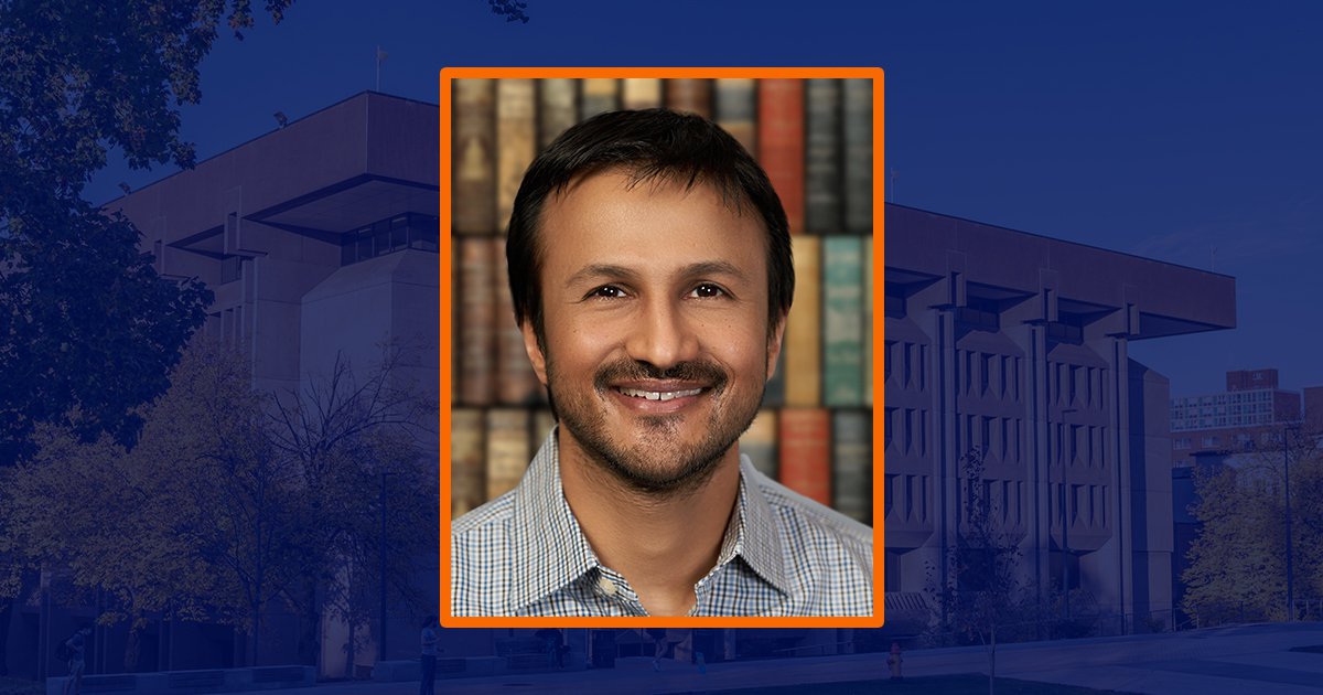
[[(1281, 432), (1275, 441), (1281, 442)], [(1286, 618), (1285, 457), (1290, 457), (1291, 557), (1297, 600), (1323, 597), (1323, 451), (1291, 434), (1287, 450), (1259, 449), (1195, 471), (1200, 523), (1184, 580), (1196, 625)]]

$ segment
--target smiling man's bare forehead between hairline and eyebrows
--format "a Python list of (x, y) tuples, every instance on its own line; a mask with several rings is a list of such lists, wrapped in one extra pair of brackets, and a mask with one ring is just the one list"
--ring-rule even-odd
[(725, 261), (758, 277), (766, 273), (762, 218), (703, 183), (639, 181), (619, 169), (591, 173), (548, 199), (540, 226), (544, 271), (626, 261), (648, 267)]

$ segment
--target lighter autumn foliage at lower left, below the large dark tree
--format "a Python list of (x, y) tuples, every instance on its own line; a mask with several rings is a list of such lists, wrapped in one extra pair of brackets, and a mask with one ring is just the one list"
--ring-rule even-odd
[(394, 596), (417, 598), (401, 588), (418, 530), (435, 528), (435, 486), (401, 434), (425, 401), (389, 385), (396, 376), (384, 361), (360, 383), (341, 361), (312, 380), (316, 398), (279, 404), (250, 389), (241, 355), (194, 340), (131, 451), (42, 428), (38, 454), (7, 473), (0, 528), (29, 567), (66, 568), (75, 586), (108, 594), (99, 620), (128, 621), (127, 670), (153, 616), (234, 625), (255, 659), (273, 602), (363, 614), (382, 541)]

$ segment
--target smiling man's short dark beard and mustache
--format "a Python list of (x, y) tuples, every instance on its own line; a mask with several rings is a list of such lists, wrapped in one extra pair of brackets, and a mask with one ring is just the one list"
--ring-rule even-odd
[[(763, 360), (766, 361), (766, 360)], [(766, 389), (766, 379), (753, 397), (730, 391), (730, 375), (709, 361), (679, 363), (668, 369), (628, 359), (602, 365), (593, 375), (590, 392), (566, 385), (546, 359), (546, 392), (552, 413), (579, 443), (589, 461), (619, 481), (626, 488), (651, 496), (673, 498), (701, 488), (717, 471), (721, 459), (749, 429)], [(627, 380), (683, 380), (706, 384), (703, 398), (710, 406), (697, 441), (681, 442), (679, 436), (693, 414), (636, 417), (632, 441), (620, 441), (609, 422), (611, 384)]]

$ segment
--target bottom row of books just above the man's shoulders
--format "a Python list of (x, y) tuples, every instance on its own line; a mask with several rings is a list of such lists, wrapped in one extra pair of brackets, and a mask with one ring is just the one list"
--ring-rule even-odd
[[(451, 514), (519, 485), (554, 421), (545, 408), (456, 408), (451, 413)], [(872, 412), (763, 409), (740, 451), (782, 485), (872, 524)]]

